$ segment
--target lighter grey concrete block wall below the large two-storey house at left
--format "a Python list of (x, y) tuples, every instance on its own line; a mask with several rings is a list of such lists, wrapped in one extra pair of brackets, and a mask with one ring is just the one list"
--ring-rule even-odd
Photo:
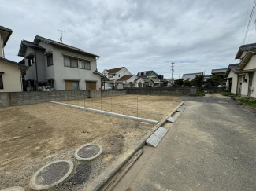
[(0, 107), (39, 104), (46, 101), (67, 101), (89, 97), (109, 97), (127, 94), (127, 90), (77, 90), (52, 92), (0, 93)]

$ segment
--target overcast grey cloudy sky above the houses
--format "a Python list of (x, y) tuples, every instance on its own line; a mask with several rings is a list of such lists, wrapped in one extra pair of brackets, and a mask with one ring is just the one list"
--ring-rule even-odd
[[(1, 0), (0, 25), (13, 30), (6, 58), (35, 35), (57, 40), (98, 59), (98, 71), (125, 66), (132, 74), (154, 70), (170, 77), (226, 68), (243, 42), (250, 0)], [(250, 29), (256, 42), (255, 26)], [(250, 33), (249, 32), (249, 33)], [(249, 36), (249, 35), (248, 35)], [(249, 43), (247, 38), (246, 43)]]

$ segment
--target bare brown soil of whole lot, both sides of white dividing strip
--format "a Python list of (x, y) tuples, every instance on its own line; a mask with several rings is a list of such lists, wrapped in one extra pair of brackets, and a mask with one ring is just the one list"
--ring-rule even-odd
[[(111, 101), (109, 97), (103, 98), (102, 101), (106, 103), (101, 105), (98, 103), (100, 98), (73, 102), (81, 106), (94, 103), (93, 108), (101, 107), (102, 110), (118, 112), (122, 105), (121, 98), (126, 98), (128, 102), (123, 104), (129, 106), (134, 99), (136, 101), (137, 96), (112, 97), (115, 103), (113, 108), (107, 105), (107, 101)], [(139, 96), (139, 117), (159, 121), (180, 104), (179, 98)], [(132, 113), (128, 107), (125, 109), (124, 114)], [(80, 189), (152, 127), (153, 124), (50, 103), (0, 108), (0, 189), (20, 185), (30, 190), (28, 182), (32, 174), (46, 163), (61, 159), (72, 160), (75, 169), (67, 181), (49, 190)], [(75, 150), (89, 142), (102, 145), (102, 155), (89, 162), (76, 160), (73, 156)]]

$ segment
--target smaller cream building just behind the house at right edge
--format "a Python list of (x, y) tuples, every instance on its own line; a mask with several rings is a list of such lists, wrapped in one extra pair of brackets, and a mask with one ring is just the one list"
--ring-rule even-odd
[(237, 83), (237, 69), (239, 64), (229, 64), (224, 74), (224, 78), (227, 79), (227, 91), (233, 94), (239, 93), (239, 84)]

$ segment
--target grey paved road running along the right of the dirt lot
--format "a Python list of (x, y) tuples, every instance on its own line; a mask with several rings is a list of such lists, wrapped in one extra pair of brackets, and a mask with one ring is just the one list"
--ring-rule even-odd
[(168, 134), (113, 190), (256, 190), (256, 115), (221, 97), (184, 97)]

